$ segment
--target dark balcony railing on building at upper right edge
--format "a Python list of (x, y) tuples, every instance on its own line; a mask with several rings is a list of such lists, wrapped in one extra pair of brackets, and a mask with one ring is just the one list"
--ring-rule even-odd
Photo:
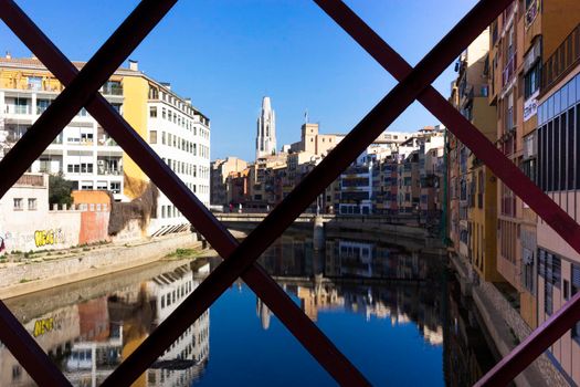
[(546, 61), (542, 70), (542, 90), (548, 91), (568, 70), (580, 61), (580, 24), (563, 40)]

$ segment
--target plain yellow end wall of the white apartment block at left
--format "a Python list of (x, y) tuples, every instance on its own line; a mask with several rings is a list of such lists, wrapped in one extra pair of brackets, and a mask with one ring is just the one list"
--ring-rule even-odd
[[(147, 98), (149, 83), (143, 76), (125, 76), (123, 79), (123, 117), (146, 140), (147, 138)], [(123, 169), (125, 172), (124, 194), (130, 199), (143, 195), (149, 178), (126, 154), (123, 154)]]

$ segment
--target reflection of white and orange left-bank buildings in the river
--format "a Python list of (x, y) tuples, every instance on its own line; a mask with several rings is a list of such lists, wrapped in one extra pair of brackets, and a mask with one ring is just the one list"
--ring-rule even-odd
[[(66, 306), (24, 323), (40, 346), (75, 386), (96, 386), (199, 285), (209, 264), (183, 265), (116, 293)], [(205, 311), (134, 386), (189, 386), (209, 358)], [(32, 379), (0, 345), (0, 385), (29, 386)]]

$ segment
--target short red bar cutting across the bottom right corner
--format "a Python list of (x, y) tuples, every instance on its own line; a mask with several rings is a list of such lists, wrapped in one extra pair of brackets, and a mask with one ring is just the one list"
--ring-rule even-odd
[(540, 356), (550, 345), (570, 331), (574, 322), (580, 321), (580, 293), (566, 303), (548, 321), (538, 326), (524, 342), (495, 365), (476, 387), (507, 386), (531, 362)]

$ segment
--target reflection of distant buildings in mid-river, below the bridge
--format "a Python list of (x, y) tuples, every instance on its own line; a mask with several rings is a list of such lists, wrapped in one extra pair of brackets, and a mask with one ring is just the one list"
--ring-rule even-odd
[[(415, 324), (426, 343), (442, 345), (441, 258), (362, 240), (327, 239), (320, 255), (312, 245), (304, 236), (285, 236), (261, 258), (264, 268), (300, 300), (312, 321), (325, 311), (361, 314), (368, 321), (389, 318), (392, 325)], [(376, 285), (363, 284), (365, 279)], [(267, 330), (271, 312), (260, 300), (256, 314)]]

